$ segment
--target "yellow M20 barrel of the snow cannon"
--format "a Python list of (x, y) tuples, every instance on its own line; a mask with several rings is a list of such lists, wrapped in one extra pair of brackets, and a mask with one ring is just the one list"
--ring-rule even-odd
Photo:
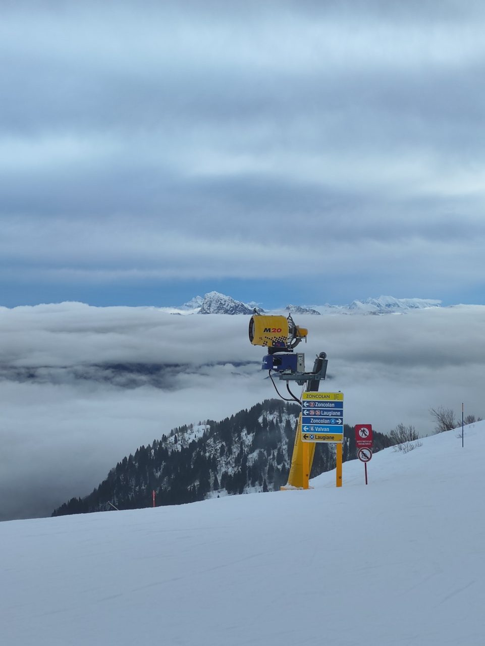
[(258, 314), (249, 321), (249, 340), (253, 346), (291, 351), (302, 339), (306, 340), (307, 334), (308, 330), (295, 325), (291, 316)]

